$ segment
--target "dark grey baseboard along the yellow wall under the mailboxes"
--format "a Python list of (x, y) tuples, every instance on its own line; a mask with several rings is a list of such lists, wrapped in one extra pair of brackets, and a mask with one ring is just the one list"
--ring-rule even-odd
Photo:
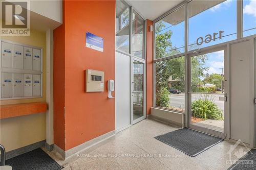
[(6, 159), (11, 159), (15, 156), (25, 154), (27, 152), (33, 151), (37, 148), (44, 147), (46, 145), (46, 140), (42, 140), (36, 143), (32, 143), (30, 145), (27, 145), (26, 147), (18, 148), (12, 151), (6, 152)]

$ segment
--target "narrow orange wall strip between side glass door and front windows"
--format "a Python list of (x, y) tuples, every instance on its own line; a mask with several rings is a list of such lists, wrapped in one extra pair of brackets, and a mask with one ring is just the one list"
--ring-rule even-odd
[(153, 21), (146, 20), (146, 114), (150, 114), (150, 108), (153, 106), (153, 32), (150, 32), (150, 26)]

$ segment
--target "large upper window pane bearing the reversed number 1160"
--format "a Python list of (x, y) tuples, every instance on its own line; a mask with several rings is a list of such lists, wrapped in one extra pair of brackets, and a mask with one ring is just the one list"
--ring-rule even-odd
[(237, 1), (188, 3), (188, 51), (237, 38)]

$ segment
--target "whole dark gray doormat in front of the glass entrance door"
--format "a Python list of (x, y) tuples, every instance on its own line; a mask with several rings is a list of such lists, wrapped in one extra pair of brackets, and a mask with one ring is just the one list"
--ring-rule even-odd
[(155, 138), (192, 157), (197, 156), (223, 140), (219, 137), (187, 128), (159, 135)]

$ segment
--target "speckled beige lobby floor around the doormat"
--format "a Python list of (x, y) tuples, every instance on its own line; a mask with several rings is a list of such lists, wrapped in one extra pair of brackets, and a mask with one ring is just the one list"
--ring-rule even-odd
[[(63, 170), (81, 169), (227, 169), (248, 150), (223, 141), (196, 157), (190, 157), (154, 137), (178, 128), (145, 119), (94, 145), (89, 150), (62, 161), (48, 153)], [(232, 150), (229, 155), (228, 152)]]

